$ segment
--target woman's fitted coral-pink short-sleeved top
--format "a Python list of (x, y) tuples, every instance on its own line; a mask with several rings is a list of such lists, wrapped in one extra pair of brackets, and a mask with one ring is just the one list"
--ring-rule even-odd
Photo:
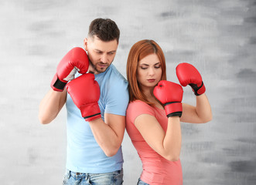
[(183, 171), (180, 160), (169, 161), (152, 150), (145, 142), (142, 135), (135, 127), (135, 118), (142, 114), (155, 116), (159, 121), (162, 129), (166, 131), (168, 119), (163, 109), (149, 106), (148, 104), (136, 100), (129, 103), (126, 113), (126, 130), (131, 138), (131, 142), (135, 146), (139, 157), (142, 160), (141, 179), (150, 185), (182, 185)]

